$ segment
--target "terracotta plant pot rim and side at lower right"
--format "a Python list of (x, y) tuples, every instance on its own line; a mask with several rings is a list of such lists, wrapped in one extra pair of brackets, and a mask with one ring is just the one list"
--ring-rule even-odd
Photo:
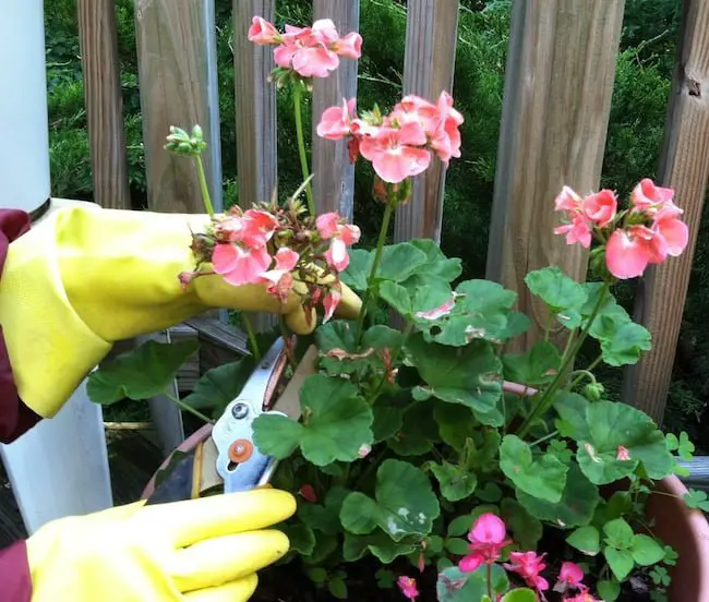
[(658, 483), (669, 495), (651, 495), (647, 516), (654, 519), (652, 531), (680, 555), (672, 567), (671, 602), (709, 602), (709, 523), (699, 510), (690, 510), (681, 499), (687, 489), (676, 477)]

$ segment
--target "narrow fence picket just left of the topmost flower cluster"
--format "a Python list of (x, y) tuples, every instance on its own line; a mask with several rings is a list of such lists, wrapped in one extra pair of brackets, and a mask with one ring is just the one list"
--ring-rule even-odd
[[(276, 169), (276, 87), (268, 82), (276, 67), (273, 46), (249, 41), (251, 20), (261, 16), (271, 23), (276, 0), (233, 0), (233, 69), (237, 109), (237, 176), (239, 205), (271, 201), (278, 189)], [(254, 314), (254, 326), (266, 330), (275, 316)]]

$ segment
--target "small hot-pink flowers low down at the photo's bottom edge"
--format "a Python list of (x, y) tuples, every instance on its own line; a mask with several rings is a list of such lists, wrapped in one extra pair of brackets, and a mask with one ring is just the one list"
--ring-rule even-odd
[[(468, 533), (468, 541), (470, 541), (468, 545), (470, 553), (458, 563), (458, 568), (462, 573), (472, 573), (482, 565), (492, 566), (502, 557), (503, 549), (513, 543), (507, 539), (507, 527), (504, 520), (492, 513), (483, 514), (476, 520)], [(549, 590), (549, 581), (541, 575), (546, 568), (544, 554), (510, 552), (509, 563), (502, 566), (510, 573), (516, 573), (527, 587), (534, 589), (540, 598), (544, 599), (543, 592)], [(416, 579), (401, 576), (397, 583), (405, 598), (416, 600), (419, 595)], [(562, 564), (554, 591), (565, 597), (564, 602), (597, 602), (589, 593), (588, 587), (584, 585), (584, 571), (575, 563)]]

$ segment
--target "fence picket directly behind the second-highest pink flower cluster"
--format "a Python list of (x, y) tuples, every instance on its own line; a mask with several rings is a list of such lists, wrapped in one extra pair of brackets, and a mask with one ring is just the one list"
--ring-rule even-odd
[[(453, 91), (458, 38), (458, 0), (409, 0), (407, 7), (404, 94), (434, 101)], [(437, 157), (413, 179), (411, 201), (396, 212), (398, 241), (432, 238), (441, 242), (445, 167)]]

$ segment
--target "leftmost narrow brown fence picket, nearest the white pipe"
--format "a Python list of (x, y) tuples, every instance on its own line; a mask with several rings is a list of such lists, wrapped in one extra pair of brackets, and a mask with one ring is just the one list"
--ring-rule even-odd
[(79, 43), (94, 201), (131, 208), (115, 0), (79, 0)]

